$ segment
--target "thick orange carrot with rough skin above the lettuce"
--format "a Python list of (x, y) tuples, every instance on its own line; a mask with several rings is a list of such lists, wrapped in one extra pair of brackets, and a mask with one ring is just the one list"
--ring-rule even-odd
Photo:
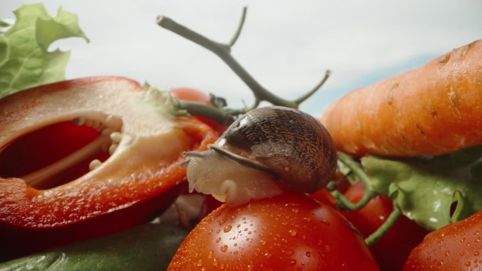
[(340, 151), (424, 156), (482, 144), (482, 40), (355, 89), (320, 118)]

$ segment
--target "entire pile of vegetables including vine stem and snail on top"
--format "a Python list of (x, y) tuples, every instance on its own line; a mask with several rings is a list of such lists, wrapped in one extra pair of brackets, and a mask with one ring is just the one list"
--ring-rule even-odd
[[(0, 39), (0, 270), (481, 270), (482, 41), (355, 89), (319, 118), (252, 90), (65, 80), (72, 13), (20, 7)], [(259, 108), (266, 101), (272, 106)], [(450, 130), (450, 132), (447, 132)], [(35, 152), (32, 149), (36, 149)]]

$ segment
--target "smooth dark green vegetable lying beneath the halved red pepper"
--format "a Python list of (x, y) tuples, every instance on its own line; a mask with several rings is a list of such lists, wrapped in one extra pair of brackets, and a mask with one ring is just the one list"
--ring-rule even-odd
[(186, 235), (173, 224), (141, 225), (0, 263), (0, 271), (166, 270)]

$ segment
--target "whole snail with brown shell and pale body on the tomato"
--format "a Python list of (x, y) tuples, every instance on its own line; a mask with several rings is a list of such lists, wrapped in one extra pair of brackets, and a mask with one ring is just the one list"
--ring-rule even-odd
[(208, 151), (187, 152), (189, 189), (231, 205), (291, 189), (326, 186), (337, 165), (333, 141), (311, 115), (293, 108), (256, 108), (235, 120)]

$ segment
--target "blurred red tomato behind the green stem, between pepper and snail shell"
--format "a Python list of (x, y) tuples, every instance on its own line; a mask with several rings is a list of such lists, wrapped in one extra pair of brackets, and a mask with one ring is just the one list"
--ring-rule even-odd
[[(196, 101), (198, 103), (204, 103), (208, 106), (212, 106), (211, 99), (208, 94), (198, 90), (192, 89), (190, 87), (175, 87), (171, 89), (171, 95), (174, 98), (184, 100), (184, 101)], [(223, 134), (227, 127), (220, 125), (218, 122), (211, 120), (209, 118), (203, 118), (200, 116), (194, 116), (198, 120), (206, 123), (207, 125), (211, 126), (216, 132), (219, 134)]]

